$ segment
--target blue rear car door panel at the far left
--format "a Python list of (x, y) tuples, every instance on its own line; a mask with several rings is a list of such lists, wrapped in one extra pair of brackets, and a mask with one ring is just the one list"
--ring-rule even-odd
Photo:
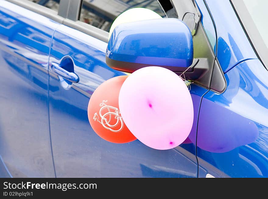
[[(35, 8), (31, 3), (29, 8)], [(38, 8), (57, 15), (41, 5)], [(55, 177), (48, 58), (58, 25), (36, 12), (0, 1), (0, 159), (13, 177)]]

